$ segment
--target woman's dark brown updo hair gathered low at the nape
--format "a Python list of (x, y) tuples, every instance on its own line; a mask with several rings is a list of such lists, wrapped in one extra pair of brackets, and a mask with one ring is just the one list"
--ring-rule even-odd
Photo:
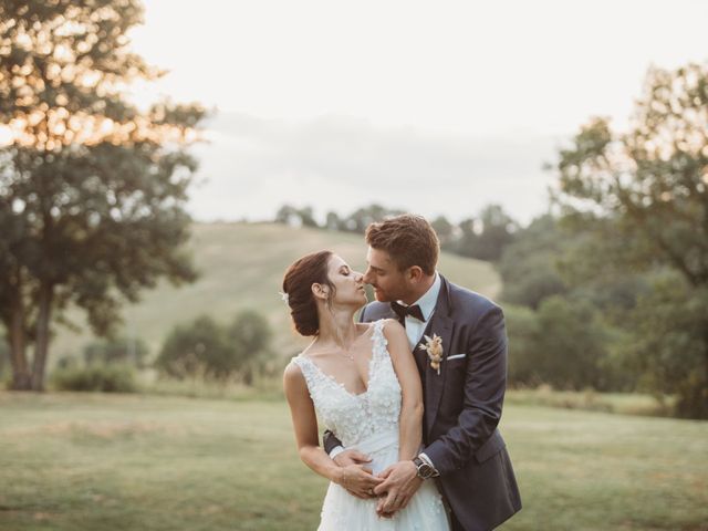
[(317, 251), (295, 260), (285, 271), (283, 293), (288, 294), (290, 315), (295, 330), (301, 335), (316, 335), (320, 332), (317, 304), (312, 293), (312, 284), (330, 287), (330, 296), (334, 296), (334, 284), (327, 278), (327, 263), (332, 251)]

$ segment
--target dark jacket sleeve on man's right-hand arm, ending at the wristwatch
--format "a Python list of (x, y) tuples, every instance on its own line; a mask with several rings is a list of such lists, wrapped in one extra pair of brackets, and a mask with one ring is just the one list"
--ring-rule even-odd
[(480, 317), (468, 342), (467, 357), (462, 412), (457, 425), (423, 450), (442, 476), (464, 468), (501, 418), (507, 388), (507, 333), (499, 306), (490, 308)]

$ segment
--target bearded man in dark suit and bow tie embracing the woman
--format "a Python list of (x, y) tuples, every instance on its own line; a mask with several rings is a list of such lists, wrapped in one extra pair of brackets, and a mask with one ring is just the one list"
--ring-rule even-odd
[[(404, 215), (366, 229), (364, 282), (376, 302), (362, 322), (397, 319), (406, 329), (420, 379), (425, 415), (423, 447), (410, 461), (386, 469), (374, 491), (377, 511), (406, 507), (423, 481), (436, 481), (454, 530), (481, 531), (521, 509), (504, 440), (497, 428), (507, 386), (507, 336), (502, 311), (478, 293), (436, 272), (439, 242), (419, 216)], [(441, 339), (441, 353), (425, 336)], [(325, 450), (340, 466), (365, 464), (326, 433)]]

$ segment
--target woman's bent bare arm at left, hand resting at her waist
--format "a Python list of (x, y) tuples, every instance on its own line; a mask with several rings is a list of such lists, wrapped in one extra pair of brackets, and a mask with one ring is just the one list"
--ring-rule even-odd
[(320, 476), (341, 485), (361, 498), (368, 498), (368, 490), (382, 482), (362, 466), (339, 467), (320, 447), (317, 418), (310, 398), (308, 384), (300, 367), (291, 363), (283, 375), (285, 398), (290, 405), (295, 442), (302, 461)]

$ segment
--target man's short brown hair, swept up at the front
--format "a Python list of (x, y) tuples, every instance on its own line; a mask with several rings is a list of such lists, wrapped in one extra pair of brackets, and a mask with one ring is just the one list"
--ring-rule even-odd
[(440, 241), (423, 216), (404, 214), (366, 228), (366, 243), (386, 251), (399, 271), (418, 266), (424, 273), (435, 274)]

